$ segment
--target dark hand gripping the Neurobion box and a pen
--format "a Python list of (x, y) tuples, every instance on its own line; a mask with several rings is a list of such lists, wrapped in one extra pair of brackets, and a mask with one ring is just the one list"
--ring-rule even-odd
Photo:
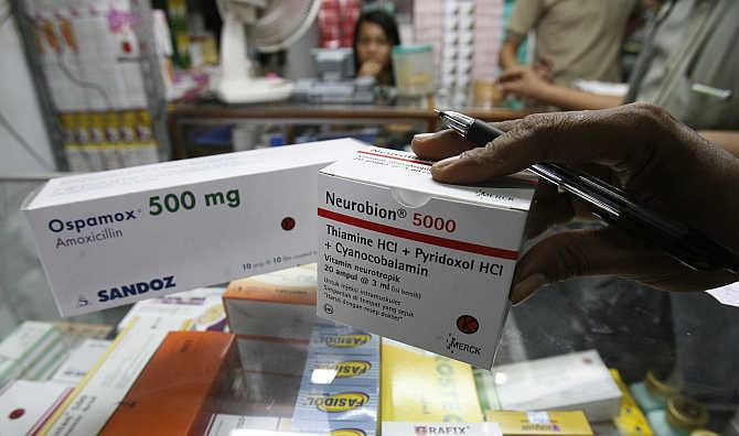
[[(506, 131), (484, 148), (446, 130), (415, 138), (442, 183), (476, 184), (537, 162), (608, 171), (636, 203), (672, 217), (739, 251), (739, 160), (713, 145), (668, 112), (635, 103), (581, 112), (538, 113), (495, 123)], [(461, 153), (461, 154), (460, 154)], [(540, 182), (526, 233), (565, 222), (578, 209), (569, 194)], [(694, 271), (658, 248), (615, 227), (563, 231), (544, 238), (518, 260), (511, 299), (521, 303), (546, 283), (612, 274), (665, 291), (703, 291), (739, 280), (724, 271)]]

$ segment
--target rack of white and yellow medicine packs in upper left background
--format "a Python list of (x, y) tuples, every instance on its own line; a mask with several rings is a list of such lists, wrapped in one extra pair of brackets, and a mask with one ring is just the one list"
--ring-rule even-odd
[[(101, 171), (158, 162), (146, 110), (142, 72), (147, 61), (137, 36), (142, 31), (141, 18), (131, 10), (130, 0), (24, 3), (25, 17), (36, 33), (41, 69), (58, 110), (69, 170)], [(167, 24), (157, 12), (152, 18), (157, 48), (152, 76), (161, 77), (164, 90), (171, 94)]]

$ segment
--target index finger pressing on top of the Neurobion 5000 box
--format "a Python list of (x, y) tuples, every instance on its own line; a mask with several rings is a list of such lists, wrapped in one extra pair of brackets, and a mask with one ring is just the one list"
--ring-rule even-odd
[(537, 113), (489, 143), (436, 163), (433, 178), (472, 184), (513, 174), (539, 162), (598, 163), (626, 179), (653, 153), (650, 134), (658, 115), (645, 105), (599, 111)]

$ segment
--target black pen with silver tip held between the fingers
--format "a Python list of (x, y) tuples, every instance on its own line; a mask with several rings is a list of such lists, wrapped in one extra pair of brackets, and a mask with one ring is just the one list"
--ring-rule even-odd
[[(483, 146), (504, 132), (463, 113), (437, 110), (445, 123)], [(593, 214), (603, 221), (662, 248), (685, 265), (701, 271), (726, 270), (739, 274), (739, 255), (701, 232), (651, 211), (626, 194), (590, 174), (554, 163), (529, 167), (545, 181), (578, 196), (593, 206)]]

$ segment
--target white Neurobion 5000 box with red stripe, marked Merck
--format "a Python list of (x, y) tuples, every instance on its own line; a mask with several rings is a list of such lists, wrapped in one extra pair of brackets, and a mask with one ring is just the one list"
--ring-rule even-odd
[(445, 185), (383, 149), (321, 170), (319, 316), (491, 368), (535, 184)]

